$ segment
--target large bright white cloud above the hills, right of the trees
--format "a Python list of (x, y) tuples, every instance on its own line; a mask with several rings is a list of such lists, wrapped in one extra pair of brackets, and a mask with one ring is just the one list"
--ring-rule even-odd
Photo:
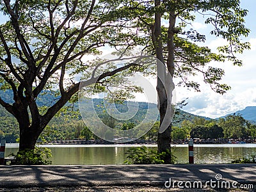
[[(216, 38), (206, 45), (213, 52), (217, 52), (217, 47), (226, 44), (227, 41), (223, 38)], [(226, 94), (214, 93), (209, 84), (202, 83), (202, 76), (194, 77), (196, 82), (201, 83), (200, 93), (189, 92), (186, 88), (176, 87), (177, 97), (180, 98), (178, 101), (189, 97), (188, 106), (184, 107), (185, 111), (195, 115), (217, 118), (244, 109), (246, 106), (256, 106), (256, 52), (253, 51), (256, 50), (256, 38), (251, 38), (250, 44), (252, 46), (250, 51), (236, 55), (243, 60), (243, 67), (234, 67), (230, 61), (209, 63), (212, 67), (225, 70), (225, 76), (223, 76), (221, 83), (226, 83), (232, 88)]]

